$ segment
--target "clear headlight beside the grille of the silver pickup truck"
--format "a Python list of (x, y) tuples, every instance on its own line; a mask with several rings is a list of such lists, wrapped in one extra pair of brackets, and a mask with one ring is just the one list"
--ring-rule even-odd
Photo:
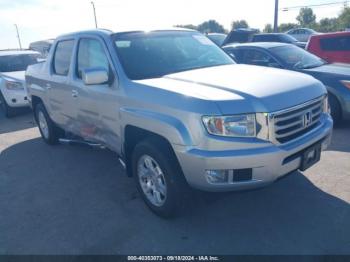
[(232, 116), (203, 116), (209, 134), (228, 137), (255, 137), (255, 114)]

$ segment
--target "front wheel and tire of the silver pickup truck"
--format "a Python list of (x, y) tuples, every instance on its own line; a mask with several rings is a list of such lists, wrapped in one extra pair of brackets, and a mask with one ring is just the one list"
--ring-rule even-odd
[[(141, 174), (145, 173), (145, 170), (151, 171), (151, 168), (147, 168), (146, 159), (151, 160), (150, 166), (158, 170), (156, 172), (158, 179), (153, 177), (152, 181), (149, 176), (142, 177)], [(160, 172), (156, 166), (160, 168)], [(159, 139), (152, 138), (137, 144), (132, 154), (132, 171), (139, 193), (156, 215), (164, 218), (178, 215), (181, 208), (185, 206), (185, 199), (190, 191), (176, 157), (168, 145), (164, 142), (160, 143)], [(154, 172), (149, 173), (154, 176)], [(145, 193), (147, 190), (150, 191), (148, 194)], [(155, 199), (160, 201), (155, 203)]]

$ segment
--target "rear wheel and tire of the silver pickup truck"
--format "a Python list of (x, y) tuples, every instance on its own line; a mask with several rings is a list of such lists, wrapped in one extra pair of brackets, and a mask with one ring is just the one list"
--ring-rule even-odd
[(45, 106), (42, 103), (37, 104), (34, 112), (35, 120), (43, 140), (49, 145), (58, 144), (58, 140), (62, 137), (63, 131), (52, 122)]

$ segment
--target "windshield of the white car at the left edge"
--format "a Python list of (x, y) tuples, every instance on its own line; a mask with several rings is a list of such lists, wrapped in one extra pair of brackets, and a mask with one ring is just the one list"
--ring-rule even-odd
[(25, 71), (29, 65), (38, 62), (37, 54), (0, 56), (0, 72)]

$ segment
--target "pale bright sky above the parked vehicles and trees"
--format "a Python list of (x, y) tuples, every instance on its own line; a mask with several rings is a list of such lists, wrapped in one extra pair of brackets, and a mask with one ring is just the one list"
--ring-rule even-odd
[[(280, 0), (280, 7), (329, 3), (335, 0)], [(95, 0), (101, 28), (170, 27), (215, 19), (226, 28), (246, 19), (251, 27), (273, 23), (274, 0)], [(334, 17), (342, 6), (315, 8), (318, 20)], [(295, 22), (297, 9), (280, 12), (280, 23)], [(0, 49), (16, 48), (14, 24), (22, 45), (94, 27), (90, 0), (0, 0)]]

